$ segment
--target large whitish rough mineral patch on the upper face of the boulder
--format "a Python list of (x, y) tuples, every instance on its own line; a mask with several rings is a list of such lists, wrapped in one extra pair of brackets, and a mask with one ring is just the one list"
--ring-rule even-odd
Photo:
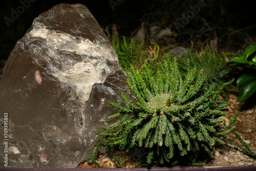
[[(43, 40), (48, 48), (48, 55), (41, 55), (45, 61), (53, 58), (61, 67), (55, 66), (54, 62), (47, 63), (51, 75), (59, 81), (76, 86), (76, 94), (81, 101), (87, 101), (90, 97), (93, 85), (105, 80), (110, 72), (105, 59), (118, 61), (117, 55), (113, 55), (110, 48), (101, 42), (92, 42), (83, 37), (74, 37), (67, 33), (56, 32), (48, 29), (41, 23), (34, 23), (29, 36)], [(35, 56), (38, 56), (40, 49), (34, 48)], [(82, 57), (82, 61), (60, 58), (59, 52), (71, 52)], [(34, 59), (38, 64), (37, 57)], [(74, 62), (75, 61), (75, 62)], [(66, 66), (65, 66), (66, 65)]]

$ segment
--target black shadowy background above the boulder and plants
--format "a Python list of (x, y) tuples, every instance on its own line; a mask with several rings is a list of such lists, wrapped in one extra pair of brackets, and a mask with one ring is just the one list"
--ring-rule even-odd
[[(21, 0), (22, 2), (28, 0)], [(12, 10), (22, 5), (20, 1), (3, 1), (1, 5), (0, 59), (6, 60), (16, 41), (30, 28), (35, 17), (56, 4), (84, 4), (88, 7), (102, 28), (116, 23), (119, 36), (131, 37), (142, 22), (149, 29), (153, 24), (162, 28), (177, 30), (174, 23), (181, 15), (191, 11), (190, 6), (201, 0), (113, 0), (118, 3), (114, 11), (109, 0), (106, 1), (41, 1), (30, 2), (29, 8), (19, 14), (8, 27), (4, 17), (11, 18)], [(199, 41), (204, 45), (208, 40), (218, 37), (220, 47), (245, 48), (255, 43), (256, 15), (253, 1), (205, 1), (206, 6), (181, 29), (175, 42), (157, 42), (163, 46), (181, 44), (188, 46), (190, 41)]]

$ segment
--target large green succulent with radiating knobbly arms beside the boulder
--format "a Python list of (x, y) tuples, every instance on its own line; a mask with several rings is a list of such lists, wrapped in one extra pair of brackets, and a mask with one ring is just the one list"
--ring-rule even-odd
[[(204, 89), (207, 76), (187, 62), (187, 74), (182, 76), (178, 62), (167, 59), (153, 75), (144, 65), (142, 71), (127, 72), (127, 83), (137, 97), (131, 102), (121, 94), (127, 106), (110, 102), (120, 112), (109, 118), (120, 117), (113, 126), (102, 127), (100, 140), (91, 160), (95, 161), (97, 148), (129, 149), (140, 155), (140, 163), (188, 164), (200, 156), (209, 157), (216, 144), (224, 143), (219, 137), (233, 132), (232, 126), (221, 126), (228, 102), (219, 94), (229, 83), (212, 84)], [(143, 149), (143, 153), (139, 153)], [(184, 158), (185, 157), (185, 158)]]

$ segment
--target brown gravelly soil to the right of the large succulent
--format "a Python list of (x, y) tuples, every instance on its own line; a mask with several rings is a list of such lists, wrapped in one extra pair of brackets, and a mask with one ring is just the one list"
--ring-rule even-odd
[[(242, 139), (250, 147), (251, 151), (256, 153), (256, 105), (255, 98), (251, 97), (246, 101), (238, 102), (236, 95), (229, 95), (227, 99), (230, 105), (227, 106), (229, 111), (227, 112), (227, 118), (232, 118), (235, 114), (238, 114), (237, 120), (234, 123), (236, 127), (236, 133), (238, 133)], [(223, 137), (224, 140), (235, 142), (242, 145), (236, 135), (230, 134)], [(255, 165), (256, 160), (247, 156), (243, 151), (231, 144), (225, 144), (216, 148), (214, 152), (214, 159), (205, 163), (204, 166), (248, 166)]]

